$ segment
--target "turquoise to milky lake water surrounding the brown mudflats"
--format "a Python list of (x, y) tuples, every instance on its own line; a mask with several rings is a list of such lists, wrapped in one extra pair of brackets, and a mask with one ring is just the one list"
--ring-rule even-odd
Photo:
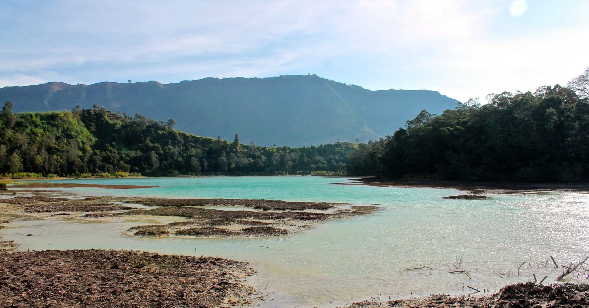
[[(262, 307), (329, 307), (379, 297), (465, 294), (471, 286), (495, 292), (506, 284), (552, 283), (565, 264), (589, 255), (589, 195), (541, 193), (446, 200), (455, 189), (333, 185), (346, 178), (300, 176), (236, 178), (80, 179), (64, 182), (157, 185), (145, 189), (59, 189), (81, 195), (224, 197), (289, 201), (379, 203), (360, 217), (329, 220), (300, 233), (263, 239), (144, 238), (131, 226), (179, 220), (139, 217), (88, 222), (75, 218), (15, 218), (0, 235), (19, 249), (141, 249), (246, 260), (249, 279), (274, 301)], [(62, 182), (49, 181), (49, 182)], [(26, 236), (27, 234), (35, 236)], [(525, 261), (524, 265), (521, 265)], [(520, 267), (521, 265), (521, 267)], [(427, 266), (422, 269), (414, 267)], [(519, 276), (518, 276), (519, 267)], [(449, 273), (456, 270), (469, 271)], [(573, 279), (575, 277), (570, 277)], [(577, 281), (577, 280), (575, 280)], [(579, 280), (587, 282), (586, 279)], [(264, 292), (264, 294), (266, 293)]]

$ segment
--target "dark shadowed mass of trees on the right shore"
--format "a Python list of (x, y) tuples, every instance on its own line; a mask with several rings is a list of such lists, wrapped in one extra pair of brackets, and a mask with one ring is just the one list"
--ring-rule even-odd
[[(582, 93), (581, 93), (582, 95)], [(350, 175), (444, 180), (589, 180), (589, 99), (547, 86), (489, 96), (439, 116), (425, 110), (387, 136), (360, 144)]]

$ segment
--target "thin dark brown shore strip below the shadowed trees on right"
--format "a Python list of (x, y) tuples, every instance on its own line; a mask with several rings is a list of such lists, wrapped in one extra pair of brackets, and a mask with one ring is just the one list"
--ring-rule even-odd
[[(588, 183), (519, 183), (519, 182), (466, 182), (441, 180), (402, 180), (379, 179), (374, 177), (351, 179), (373, 186), (391, 187), (432, 187), (455, 188), (471, 193), (511, 194), (525, 192), (589, 192)], [(337, 183), (340, 185), (358, 185), (358, 183)]]

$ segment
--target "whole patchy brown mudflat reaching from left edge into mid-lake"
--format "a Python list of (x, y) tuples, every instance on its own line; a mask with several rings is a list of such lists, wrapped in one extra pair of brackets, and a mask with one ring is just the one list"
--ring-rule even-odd
[[(310, 227), (327, 219), (366, 215), (376, 206), (350, 206), (345, 203), (286, 202), (251, 199), (163, 199), (141, 197), (89, 196), (63, 197), (60, 192), (13, 190), (15, 197), (0, 199), (0, 212), (32, 215), (37, 219), (72, 217), (78, 219), (120, 219), (124, 216), (170, 216), (177, 222), (167, 225), (140, 225), (127, 233), (134, 236), (264, 237), (280, 236)], [(78, 197), (80, 198), (80, 197)], [(143, 206), (141, 206), (143, 205)], [(221, 209), (207, 208), (210, 206)], [(137, 207), (143, 207), (138, 209)], [(239, 207), (239, 209), (236, 209)], [(85, 213), (80, 213), (85, 212)], [(51, 215), (47, 215), (51, 213)], [(0, 225), (0, 227), (3, 225)]]

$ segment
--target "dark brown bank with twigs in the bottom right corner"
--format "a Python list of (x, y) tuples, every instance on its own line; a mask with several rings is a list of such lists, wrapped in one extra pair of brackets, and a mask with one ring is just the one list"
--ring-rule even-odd
[(424, 298), (398, 299), (389, 302), (359, 302), (346, 305), (351, 308), (584, 308), (589, 307), (589, 284), (551, 284), (534, 282), (517, 283), (502, 288), (491, 296), (451, 297), (436, 294)]

